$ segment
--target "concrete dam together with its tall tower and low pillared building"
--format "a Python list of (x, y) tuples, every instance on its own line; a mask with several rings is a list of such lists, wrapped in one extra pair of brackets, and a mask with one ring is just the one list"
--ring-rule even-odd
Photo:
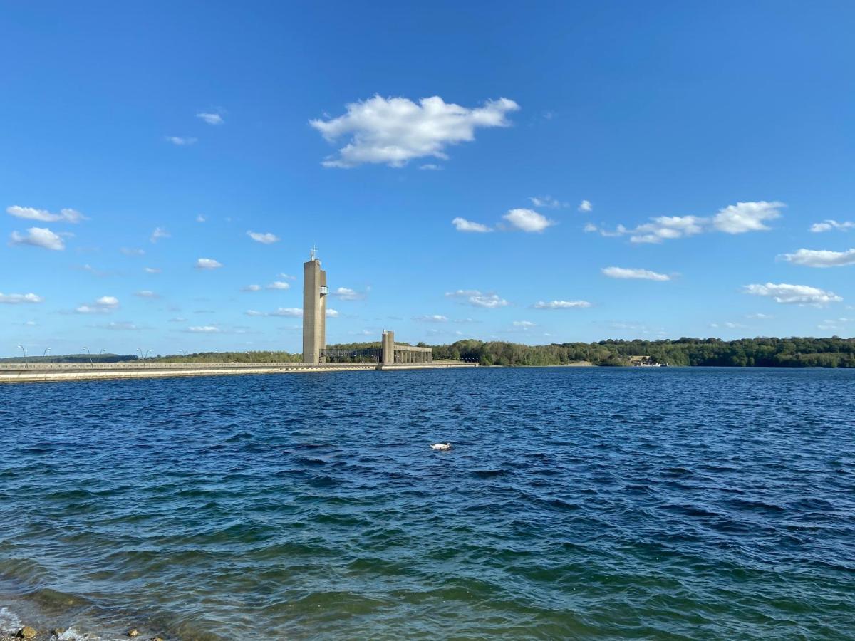
[(303, 263), (303, 362), (25, 362), (0, 363), (0, 383), (91, 379), (174, 378), (231, 374), (359, 372), (368, 370), (475, 368), (478, 363), (434, 361), (430, 347), (395, 343), (383, 330), (380, 347), (327, 348), (327, 272), (316, 250)]

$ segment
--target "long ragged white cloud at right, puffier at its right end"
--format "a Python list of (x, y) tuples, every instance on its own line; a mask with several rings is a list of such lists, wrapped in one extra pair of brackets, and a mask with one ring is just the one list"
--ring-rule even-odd
[(600, 232), (603, 236), (629, 236), (632, 243), (661, 243), (672, 238), (684, 238), (703, 232), (724, 232), (730, 234), (745, 232), (764, 232), (769, 226), (764, 221), (772, 221), (781, 216), (784, 203), (758, 201), (756, 203), (736, 203), (719, 209), (711, 217), (703, 216), (657, 216), (650, 222), (632, 229), (618, 225), (614, 231), (600, 229), (591, 223), (585, 226), (586, 232)]

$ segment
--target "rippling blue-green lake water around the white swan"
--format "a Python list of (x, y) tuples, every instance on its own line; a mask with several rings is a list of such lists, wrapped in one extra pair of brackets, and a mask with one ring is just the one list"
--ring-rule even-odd
[(718, 368), (0, 386), (0, 627), (852, 638), (853, 392)]

